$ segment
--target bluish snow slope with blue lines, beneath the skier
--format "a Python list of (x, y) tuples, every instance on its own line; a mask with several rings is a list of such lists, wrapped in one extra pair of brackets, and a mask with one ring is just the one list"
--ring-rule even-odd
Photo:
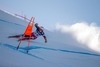
[(26, 25), (0, 10), (0, 67), (100, 67), (100, 54), (77, 46), (70, 34), (45, 30), (48, 43), (39, 37), (31, 41), (29, 54), (27, 41), (16, 50), (17, 39), (7, 37), (23, 33)]

